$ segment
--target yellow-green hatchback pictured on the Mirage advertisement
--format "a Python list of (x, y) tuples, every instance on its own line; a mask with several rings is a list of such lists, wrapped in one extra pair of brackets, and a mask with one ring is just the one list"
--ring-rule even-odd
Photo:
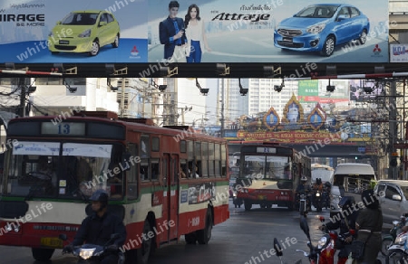
[(112, 13), (103, 10), (73, 11), (58, 21), (48, 35), (48, 49), (88, 52), (96, 56), (105, 45), (119, 47), (121, 29)]

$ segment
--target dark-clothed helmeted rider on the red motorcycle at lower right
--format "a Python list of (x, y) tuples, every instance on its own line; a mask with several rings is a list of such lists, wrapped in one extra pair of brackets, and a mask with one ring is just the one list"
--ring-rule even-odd
[[(355, 203), (353, 196), (343, 197), (338, 205), (342, 208), (342, 212), (338, 212), (330, 222), (327, 222), (319, 227), (319, 230), (336, 230), (340, 228), (340, 235), (345, 239), (335, 241), (335, 249), (340, 250), (338, 253), (337, 264), (344, 264), (350, 253), (352, 244), (355, 239), (355, 235), (349, 233), (350, 230), (355, 230), (355, 221), (357, 220), (358, 211), (353, 210), (352, 206)], [(335, 222), (334, 222), (335, 220)]]

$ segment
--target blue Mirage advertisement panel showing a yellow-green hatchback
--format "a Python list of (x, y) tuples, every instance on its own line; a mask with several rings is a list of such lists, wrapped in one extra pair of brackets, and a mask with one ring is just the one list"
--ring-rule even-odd
[(0, 4), (0, 62), (146, 62), (147, 0)]

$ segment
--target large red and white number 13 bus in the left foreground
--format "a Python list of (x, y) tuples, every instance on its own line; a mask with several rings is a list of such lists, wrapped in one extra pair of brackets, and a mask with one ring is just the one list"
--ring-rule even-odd
[(0, 244), (51, 259), (91, 213), (97, 189), (110, 193), (108, 211), (123, 219), (129, 263), (147, 263), (152, 249), (182, 235), (207, 244), (213, 225), (229, 218), (227, 142), (188, 128), (112, 112), (10, 120)]

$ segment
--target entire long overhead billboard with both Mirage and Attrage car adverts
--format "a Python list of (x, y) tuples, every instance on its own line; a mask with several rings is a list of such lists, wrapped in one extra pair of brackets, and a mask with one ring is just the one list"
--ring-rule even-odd
[(178, 3), (1, 1), (0, 62), (389, 61), (386, 0)]

